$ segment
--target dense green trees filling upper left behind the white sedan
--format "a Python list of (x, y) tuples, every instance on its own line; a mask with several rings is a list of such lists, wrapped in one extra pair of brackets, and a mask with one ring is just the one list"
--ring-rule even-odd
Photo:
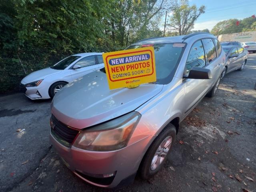
[(0, 92), (78, 52), (120, 50), (161, 36), (168, 0), (2, 0)]

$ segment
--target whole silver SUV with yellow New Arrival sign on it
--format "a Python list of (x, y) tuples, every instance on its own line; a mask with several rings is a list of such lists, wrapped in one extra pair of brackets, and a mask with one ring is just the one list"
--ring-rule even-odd
[(152, 38), (128, 49), (145, 46), (154, 46), (156, 82), (109, 90), (103, 68), (67, 84), (52, 100), (52, 145), (90, 184), (121, 187), (137, 172), (156, 174), (180, 122), (218, 89), (226, 56), (213, 35)]

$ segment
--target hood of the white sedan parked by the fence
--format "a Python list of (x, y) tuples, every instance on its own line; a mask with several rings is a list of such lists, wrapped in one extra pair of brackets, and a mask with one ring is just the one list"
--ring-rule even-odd
[(41, 69), (41, 70), (32, 72), (28, 76), (24, 77), (21, 80), (21, 83), (22, 84), (31, 83), (31, 82), (34, 82), (34, 81), (37, 81), (37, 80), (44, 79), (44, 78), (46, 78), (48, 76), (52, 76), (52, 75), (58, 74), (58, 73), (60, 73), (62, 71), (63, 70), (56, 70), (56, 69), (52, 69), (50, 67), (45, 68), (45, 69)]

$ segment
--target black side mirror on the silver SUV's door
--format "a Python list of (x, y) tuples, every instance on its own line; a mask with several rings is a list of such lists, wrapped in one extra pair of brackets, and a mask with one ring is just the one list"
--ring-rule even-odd
[(186, 79), (212, 79), (212, 72), (210, 69), (202, 67), (192, 67), (188, 76), (183, 76)]

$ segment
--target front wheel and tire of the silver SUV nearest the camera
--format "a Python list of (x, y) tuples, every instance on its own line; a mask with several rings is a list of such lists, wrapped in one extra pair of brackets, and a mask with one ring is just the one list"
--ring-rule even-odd
[[(173, 124), (168, 124), (162, 132), (156, 137), (148, 148), (140, 164), (140, 176), (143, 179), (148, 179), (150, 176), (156, 174), (166, 162), (168, 154), (176, 139), (176, 128)], [(164, 145), (165, 144), (165, 145)], [(168, 146), (161, 148), (161, 146)], [(167, 151), (168, 149), (168, 151)], [(157, 153), (160, 155), (157, 155)], [(153, 163), (153, 160), (155, 164)]]

